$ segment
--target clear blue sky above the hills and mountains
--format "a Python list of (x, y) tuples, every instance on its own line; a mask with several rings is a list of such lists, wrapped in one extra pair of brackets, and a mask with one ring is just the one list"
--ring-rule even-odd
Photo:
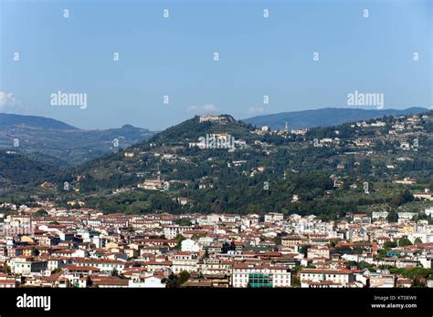
[[(163, 129), (197, 113), (348, 107), (355, 90), (431, 107), (432, 3), (0, 0), (0, 112)], [(88, 107), (51, 106), (58, 90)]]

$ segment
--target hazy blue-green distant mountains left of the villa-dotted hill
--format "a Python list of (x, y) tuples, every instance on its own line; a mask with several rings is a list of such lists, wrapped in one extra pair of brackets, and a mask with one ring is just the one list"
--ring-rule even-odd
[(131, 125), (83, 130), (52, 118), (0, 113), (0, 150), (26, 153), (28, 158), (58, 167), (99, 158), (153, 135), (153, 131)]

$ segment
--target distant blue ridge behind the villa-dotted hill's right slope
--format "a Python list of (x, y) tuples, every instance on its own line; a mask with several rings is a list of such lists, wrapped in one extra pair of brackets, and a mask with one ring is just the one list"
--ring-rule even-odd
[(428, 111), (424, 107), (409, 107), (403, 110), (396, 109), (357, 109), (326, 107), (322, 109), (281, 112), (273, 115), (246, 118), (242, 121), (257, 127), (268, 126), (272, 129), (283, 129), (286, 122), (289, 129), (333, 127), (348, 122), (382, 118), (385, 116), (415, 115)]

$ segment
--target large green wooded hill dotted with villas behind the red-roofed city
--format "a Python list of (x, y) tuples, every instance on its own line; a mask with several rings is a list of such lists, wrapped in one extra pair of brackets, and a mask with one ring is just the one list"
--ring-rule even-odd
[[(200, 147), (206, 135), (233, 137), (235, 148)], [(417, 211), (424, 205), (413, 194), (433, 190), (432, 136), (431, 111), (296, 133), (229, 116), (195, 117), (48, 177), (52, 189), (26, 193), (105, 212), (279, 211), (337, 219), (349, 211)], [(405, 178), (416, 184), (396, 182)], [(65, 181), (69, 190), (61, 189)]]

